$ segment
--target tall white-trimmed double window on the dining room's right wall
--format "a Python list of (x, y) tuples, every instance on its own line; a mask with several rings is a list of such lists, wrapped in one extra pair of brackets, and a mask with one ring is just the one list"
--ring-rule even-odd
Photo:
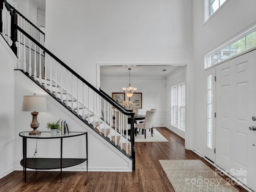
[(172, 86), (172, 125), (185, 130), (186, 86), (185, 83)]

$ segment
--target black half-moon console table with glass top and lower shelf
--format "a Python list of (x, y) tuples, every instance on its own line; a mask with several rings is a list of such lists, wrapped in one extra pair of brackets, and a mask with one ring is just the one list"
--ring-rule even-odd
[[(86, 137), (86, 158), (62, 158), (62, 140), (64, 138), (85, 135)], [(86, 161), (88, 172), (88, 140), (87, 132), (70, 132), (69, 134), (51, 136), (50, 132), (41, 132), (39, 135), (29, 135), (29, 132), (20, 132), (23, 146), (23, 159), (20, 165), (23, 166), (24, 181), (26, 182), (26, 168), (36, 170), (60, 169), (60, 182), (62, 182), (62, 168), (67, 168), (81, 164)], [(60, 139), (60, 158), (27, 158), (27, 139)]]

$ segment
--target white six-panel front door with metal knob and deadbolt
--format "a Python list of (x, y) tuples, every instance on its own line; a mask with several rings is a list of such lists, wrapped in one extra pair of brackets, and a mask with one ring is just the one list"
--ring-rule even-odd
[(256, 190), (256, 50), (216, 66), (216, 165)]

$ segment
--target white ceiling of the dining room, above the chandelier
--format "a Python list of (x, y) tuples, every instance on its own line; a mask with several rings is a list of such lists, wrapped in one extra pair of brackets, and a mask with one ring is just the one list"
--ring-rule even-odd
[(179, 67), (170, 65), (152, 66), (100, 66), (100, 78), (129, 76), (128, 68), (131, 68), (131, 77), (166, 77)]

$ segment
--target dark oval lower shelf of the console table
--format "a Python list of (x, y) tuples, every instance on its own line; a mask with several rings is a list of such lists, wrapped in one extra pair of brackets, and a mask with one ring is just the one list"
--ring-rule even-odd
[[(60, 158), (27, 158), (26, 168), (47, 170), (47, 169), (60, 169), (75, 166), (85, 162), (87, 159), (71, 159), (63, 158), (62, 167), (60, 166)], [(25, 167), (25, 160), (20, 161), (20, 165)]]

